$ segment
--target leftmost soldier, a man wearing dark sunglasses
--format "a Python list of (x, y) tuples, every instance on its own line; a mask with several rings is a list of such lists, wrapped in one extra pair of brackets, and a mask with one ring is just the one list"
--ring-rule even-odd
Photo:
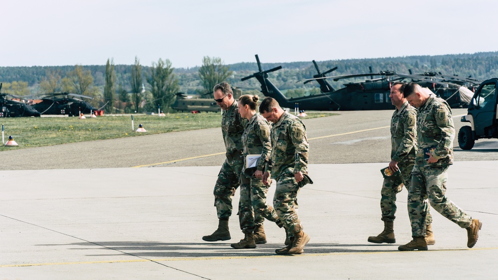
[(225, 148), (227, 149), (227, 158), (218, 174), (218, 180), (213, 191), (219, 219), (218, 229), (211, 235), (203, 236), (202, 239), (205, 241), (231, 239), (228, 219), (232, 215), (232, 197), (237, 187), (239, 187), (239, 177), (244, 165), (242, 133), (247, 124), (247, 120), (239, 114), (237, 101), (234, 99), (234, 93), (229, 84), (225, 82), (218, 84), (214, 87), (213, 92), (216, 103), (223, 110), (221, 127)]

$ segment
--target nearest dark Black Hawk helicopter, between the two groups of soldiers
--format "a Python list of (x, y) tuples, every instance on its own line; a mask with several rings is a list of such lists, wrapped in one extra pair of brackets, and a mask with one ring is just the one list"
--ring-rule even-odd
[[(268, 73), (277, 71), (282, 67), (278, 66), (263, 71), (261, 69), (259, 57), (257, 55), (255, 55), (255, 57), (258, 72), (242, 78), (242, 81), (256, 78), (259, 84), (261, 84), (261, 93), (265, 96), (275, 98), (282, 107), (293, 108), (298, 103), (300, 110), (383, 110), (393, 108), (389, 98), (391, 82), (386, 79), (345, 84), (345, 88), (340, 90), (335, 90), (326, 81), (321, 81), (320, 83), (323, 84), (320, 84), (322, 90), (322, 93), (320, 94), (286, 98), (285, 95), (268, 80)], [(330, 73), (334, 70), (335, 69), (330, 69), (324, 73)], [(328, 78), (324, 73), (320, 73), (318, 70), (318, 76), (320, 77), (309, 80), (322, 80)]]

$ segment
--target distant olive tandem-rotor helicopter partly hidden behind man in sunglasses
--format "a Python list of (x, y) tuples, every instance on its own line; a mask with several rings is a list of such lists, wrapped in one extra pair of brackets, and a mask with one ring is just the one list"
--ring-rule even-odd
[[(242, 95), (242, 90), (232, 88), (234, 98), (239, 99)], [(213, 96), (213, 93), (204, 93), (205, 96)], [(219, 112), (220, 106), (216, 104), (213, 98), (194, 98), (186, 93), (176, 93), (176, 100), (171, 104), (171, 108), (178, 111), (188, 112)]]

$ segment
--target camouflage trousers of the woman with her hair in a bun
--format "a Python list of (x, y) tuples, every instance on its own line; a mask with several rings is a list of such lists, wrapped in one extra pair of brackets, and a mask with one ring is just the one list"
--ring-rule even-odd
[(277, 213), (266, 204), (268, 188), (261, 179), (241, 175), (241, 199), (239, 200), (239, 222), (242, 232), (251, 233), (256, 225), (261, 225), (264, 218), (276, 222)]

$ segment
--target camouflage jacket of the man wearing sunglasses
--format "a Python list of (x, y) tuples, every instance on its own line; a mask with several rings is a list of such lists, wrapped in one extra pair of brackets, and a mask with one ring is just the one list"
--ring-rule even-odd
[(239, 114), (237, 101), (232, 103), (232, 106), (223, 111), (221, 120), (221, 130), (225, 148), (227, 149), (226, 156), (230, 164), (242, 164), (242, 133), (246, 127), (247, 120)]

